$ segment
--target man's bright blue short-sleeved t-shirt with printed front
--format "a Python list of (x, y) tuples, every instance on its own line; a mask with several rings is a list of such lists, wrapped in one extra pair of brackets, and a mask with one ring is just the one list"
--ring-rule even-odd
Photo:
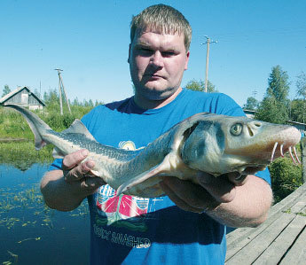
[[(99, 105), (82, 118), (101, 144), (137, 149), (195, 113), (244, 116), (231, 97), (183, 90), (159, 109), (143, 110), (133, 97)], [(51, 168), (59, 168), (56, 160)], [(270, 183), (268, 171), (257, 174)], [(167, 196), (115, 195), (105, 185), (89, 196), (90, 264), (224, 264), (224, 225), (185, 212)]]

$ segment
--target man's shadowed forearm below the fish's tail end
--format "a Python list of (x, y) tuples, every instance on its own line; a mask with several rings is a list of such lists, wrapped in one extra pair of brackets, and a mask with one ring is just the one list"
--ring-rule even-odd
[(41, 191), (46, 205), (59, 211), (74, 210), (87, 195), (77, 191), (77, 185), (66, 183), (61, 170), (47, 172), (41, 181)]

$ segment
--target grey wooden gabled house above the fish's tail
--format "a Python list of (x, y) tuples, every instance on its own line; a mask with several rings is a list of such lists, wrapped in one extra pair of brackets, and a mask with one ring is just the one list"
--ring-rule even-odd
[(43, 109), (43, 100), (37, 97), (29, 88), (18, 87), (16, 90), (0, 98), (0, 105), (15, 104), (28, 107), (30, 110)]

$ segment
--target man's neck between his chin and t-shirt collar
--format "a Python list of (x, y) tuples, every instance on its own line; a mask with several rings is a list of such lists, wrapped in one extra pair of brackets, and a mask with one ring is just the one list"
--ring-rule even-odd
[(182, 88), (179, 87), (175, 93), (171, 96), (163, 98), (161, 100), (152, 100), (142, 97), (141, 95), (135, 94), (134, 102), (140, 108), (147, 110), (147, 109), (158, 109), (163, 107), (164, 105), (168, 105), (171, 101), (173, 101), (177, 95), (182, 91)]

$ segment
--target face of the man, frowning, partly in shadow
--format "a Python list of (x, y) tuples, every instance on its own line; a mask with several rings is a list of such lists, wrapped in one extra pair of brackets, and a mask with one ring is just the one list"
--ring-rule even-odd
[(184, 35), (137, 30), (129, 47), (129, 70), (136, 103), (173, 95), (180, 88), (188, 59)]

